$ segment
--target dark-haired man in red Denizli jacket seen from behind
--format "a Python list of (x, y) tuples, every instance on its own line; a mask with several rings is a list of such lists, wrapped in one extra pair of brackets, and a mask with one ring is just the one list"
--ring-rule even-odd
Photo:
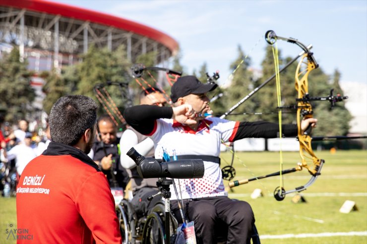
[(52, 142), (26, 166), (17, 187), (18, 244), (121, 244), (109, 184), (87, 156), (96, 110), (93, 99), (80, 95), (52, 107)]

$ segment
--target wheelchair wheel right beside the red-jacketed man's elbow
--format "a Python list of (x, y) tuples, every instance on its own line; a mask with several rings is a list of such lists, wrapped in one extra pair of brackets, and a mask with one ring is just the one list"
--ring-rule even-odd
[(135, 244), (135, 226), (136, 216), (131, 207), (131, 204), (122, 199), (116, 207), (116, 214), (120, 222), (120, 232), (123, 239), (123, 244)]

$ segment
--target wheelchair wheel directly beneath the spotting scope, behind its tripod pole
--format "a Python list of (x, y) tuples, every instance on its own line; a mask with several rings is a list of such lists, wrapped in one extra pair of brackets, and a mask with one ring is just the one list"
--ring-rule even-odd
[[(146, 219), (142, 244), (165, 244), (166, 229), (165, 229), (165, 210), (163, 203), (157, 203), (148, 214)], [(178, 222), (174, 215), (170, 213), (170, 234), (176, 234)]]

